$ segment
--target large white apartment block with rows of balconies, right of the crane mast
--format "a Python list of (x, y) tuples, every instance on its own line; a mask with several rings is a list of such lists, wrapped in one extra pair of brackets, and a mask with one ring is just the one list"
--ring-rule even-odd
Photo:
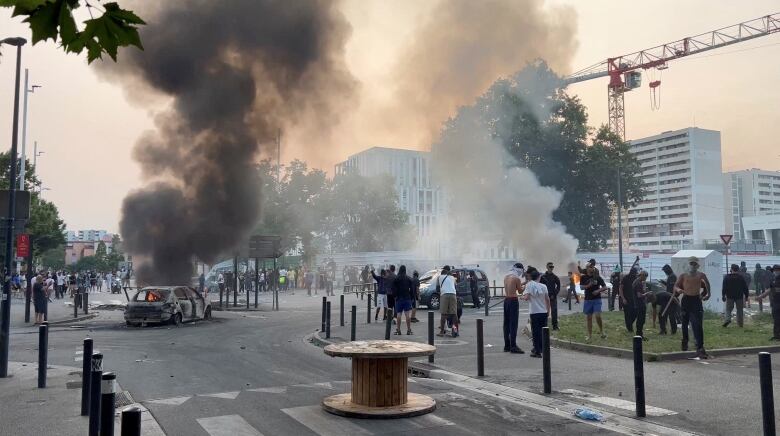
[(677, 251), (723, 233), (720, 132), (696, 127), (630, 141), (645, 198), (628, 210), (629, 248)]

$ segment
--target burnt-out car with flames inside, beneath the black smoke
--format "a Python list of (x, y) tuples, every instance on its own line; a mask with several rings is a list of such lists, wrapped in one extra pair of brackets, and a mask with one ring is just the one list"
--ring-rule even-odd
[(184, 321), (211, 319), (211, 302), (189, 286), (149, 286), (135, 293), (125, 308), (129, 326), (147, 323), (179, 325)]

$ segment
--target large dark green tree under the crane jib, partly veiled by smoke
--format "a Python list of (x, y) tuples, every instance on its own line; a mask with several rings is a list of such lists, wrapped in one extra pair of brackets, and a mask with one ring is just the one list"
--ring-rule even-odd
[(580, 249), (598, 250), (611, 237), (618, 170), (624, 206), (636, 204), (644, 195), (641, 170), (629, 145), (605, 126), (588, 126), (585, 107), (560, 85), (546, 64), (530, 65), (510, 79), (498, 80), (474, 105), (461, 109), (478, 111), (478, 126), (458, 125), (456, 117), (442, 137), (484, 129), (514, 158), (507, 165), (529, 168), (542, 185), (563, 193), (553, 218), (579, 240)]

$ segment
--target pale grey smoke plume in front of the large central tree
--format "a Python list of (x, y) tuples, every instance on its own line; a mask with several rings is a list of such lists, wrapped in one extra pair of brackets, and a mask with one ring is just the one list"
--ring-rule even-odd
[(559, 84), (542, 63), (499, 80), (473, 105), (458, 111), (432, 150), (436, 180), (450, 199), (449, 230), (468, 229), (469, 241), (516, 247), (518, 260), (537, 267), (573, 260), (577, 240), (552, 218), (563, 195), (540, 185), (531, 170), (518, 167), (502, 144), (509, 136), (501, 131), (502, 120), (516, 115), (506, 114), (503, 103), (519, 99), (527, 109), (521, 116), (547, 119), (548, 97)]

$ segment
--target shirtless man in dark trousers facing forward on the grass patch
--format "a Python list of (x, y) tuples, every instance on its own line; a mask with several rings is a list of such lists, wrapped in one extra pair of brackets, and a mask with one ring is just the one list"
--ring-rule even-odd
[[(704, 292), (702, 292), (702, 289)], [(693, 329), (696, 341), (696, 357), (707, 358), (704, 349), (704, 307), (702, 301), (710, 299), (710, 281), (707, 275), (699, 271), (699, 259), (688, 258), (688, 271), (680, 274), (674, 284), (675, 294), (682, 294), (680, 309), (682, 312), (682, 351), (688, 351), (688, 325)]]

